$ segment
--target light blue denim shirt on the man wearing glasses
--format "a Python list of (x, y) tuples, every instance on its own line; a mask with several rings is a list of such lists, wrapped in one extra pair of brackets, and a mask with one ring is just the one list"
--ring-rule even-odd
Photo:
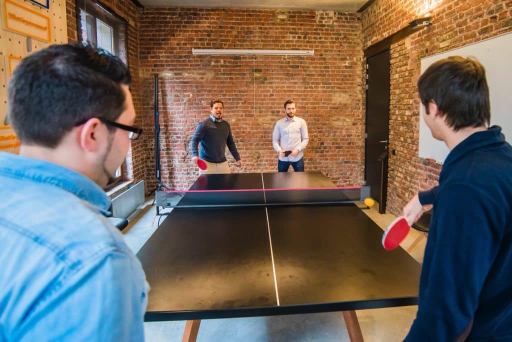
[(0, 341), (142, 341), (148, 286), (93, 181), (0, 153)]

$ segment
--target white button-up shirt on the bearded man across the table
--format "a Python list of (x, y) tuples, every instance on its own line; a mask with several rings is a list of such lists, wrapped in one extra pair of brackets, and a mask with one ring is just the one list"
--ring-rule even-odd
[(281, 161), (299, 161), (304, 157), (304, 149), (308, 145), (309, 135), (308, 126), (304, 119), (294, 116), (292, 119), (285, 117), (275, 123), (274, 133), (272, 134), (272, 145), (276, 152), (293, 151), (298, 149), (298, 155), (295, 157), (281, 157)]

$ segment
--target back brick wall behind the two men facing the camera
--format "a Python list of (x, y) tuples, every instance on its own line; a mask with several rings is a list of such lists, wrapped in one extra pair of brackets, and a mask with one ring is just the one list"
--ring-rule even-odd
[[(221, 98), (243, 160), (236, 172), (273, 172), (271, 136), (297, 101), (308, 123), (306, 170), (321, 170), (337, 185), (359, 185), (364, 164), (362, 46), (359, 15), (291, 11), (283, 23), (272, 10), (146, 8), (140, 16), (142, 111), (153, 131), (154, 74), (160, 77), (163, 183), (187, 188), (198, 176), (189, 140)], [(198, 56), (193, 48), (311, 50), (314, 56)], [(151, 135), (148, 132), (148, 135)], [(153, 139), (144, 155), (153, 156)], [(233, 159), (228, 153), (228, 160)], [(153, 174), (153, 163), (147, 164)], [(151, 179), (150, 179), (151, 183)], [(155, 185), (155, 182), (152, 183)]]

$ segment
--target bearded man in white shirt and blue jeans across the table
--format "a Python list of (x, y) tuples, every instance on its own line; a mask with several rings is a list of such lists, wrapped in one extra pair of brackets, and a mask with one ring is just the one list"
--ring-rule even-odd
[(288, 172), (290, 165), (295, 172), (304, 171), (304, 149), (308, 145), (306, 121), (295, 116), (294, 100), (284, 104), (286, 116), (275, 123), (272, 145), (278, 152), (278, 171)]

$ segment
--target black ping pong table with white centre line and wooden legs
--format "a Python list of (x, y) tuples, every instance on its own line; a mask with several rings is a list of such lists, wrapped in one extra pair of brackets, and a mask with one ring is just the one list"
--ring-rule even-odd
[[(354, 310), (416, 305), (420, 264), (383, 249), (357, 205), (266, 205), (333, 186), (319, 172), (200, 176), (190, 190), (239, 192), (186, 193), (182, 203), (213, 206), (175, 207), (137, 253), (151, 286), (145, 320), (187, 320), (183, 340), (195, 340), (201, 319), (343, 311), (362, 341)], [(216, 207), (226, 196), (232, 206)]]

